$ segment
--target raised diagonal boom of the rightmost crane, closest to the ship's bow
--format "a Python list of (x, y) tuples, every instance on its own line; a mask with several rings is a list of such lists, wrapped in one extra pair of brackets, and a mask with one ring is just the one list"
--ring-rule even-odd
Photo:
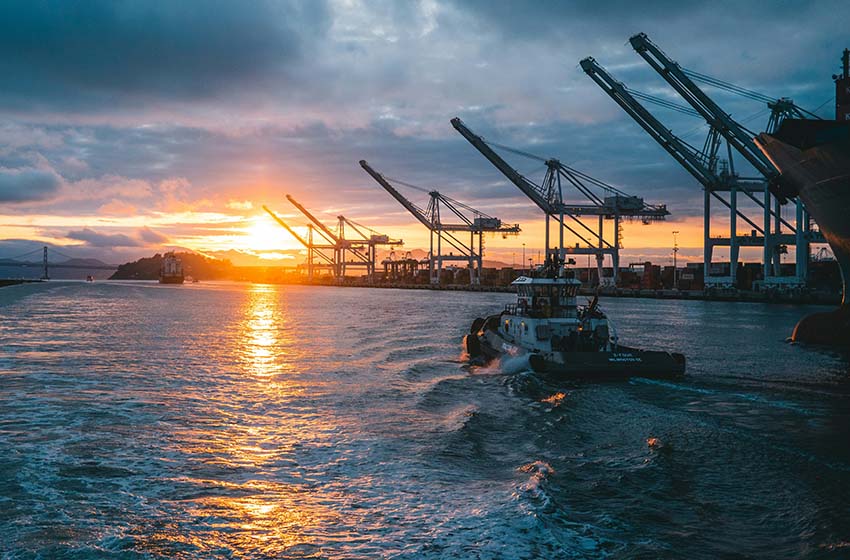
[(638, 33), (630, 38), (629, 42), (641, 58), (696, 109), (705, 121), (740, 152), (759, 173), (767, 179), (778, 175), (776, 168), (767, 159), (767, 156), (756, 147), (752, 134), (706, 95), (677, 62), (671, 60), (649, 40), (646, 33)]

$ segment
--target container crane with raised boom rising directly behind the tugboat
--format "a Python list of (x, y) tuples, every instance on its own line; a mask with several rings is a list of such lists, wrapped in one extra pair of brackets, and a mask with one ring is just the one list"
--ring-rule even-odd
[[(599, 274), (599, 282), (603, 278), (603, 262), (605, 255), (611, 255), (613, 276), (611, 282), (616, 285), (617, 272), (620, 266), (620, 221), (622, 219), (639, 218), (644, 223), (663, 220), (670, 213), (664, 205), (650, 205), (643, 198), (632, 196), (623, 191), (594, 179), (572, 167), (564, 165), (557, 159), (541, 158), (539, 156), (514, 150), (506, 146), (488, 142), (470, 130), (459, 118), (451, 121), (452, 126), (502, 172), (514, 185), (543, 211), (545, 216), (546, 258), (555, 255), (559, 260), (565, 260), (567, 254), (595, 255)], [(517, 171), (493, 148), (498, 147), (517, 155), (542, 162), (546, 173), (542, 182), (535, 183)], [(572, 187), (584, 199), (582, 203), (569, 203), (564, 200), (564, 189)], [(600, 194), (597, 194), (601, 191)], [(597, 229), (594, 230), (582, 221), (585, 216), (598, 219)], [(569, 218), (572, 222), (567, 222)], [(613, 243), (605, 239), (603, 220), (614, 221)], [(550, 222), (558, 224), (558, 247), (553, 249), (550, 242)], [(564, 231), (572, 233), (584, 247), (576, 244), (574, 247), (564, 245)]]

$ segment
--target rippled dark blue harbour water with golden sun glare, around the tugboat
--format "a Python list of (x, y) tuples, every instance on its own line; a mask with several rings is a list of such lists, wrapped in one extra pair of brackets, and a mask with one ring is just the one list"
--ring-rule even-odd
[(2, 557), (850, 557), (847, 360), (784, 342), (810, 309), (605, 300), (688, 376), (554, 386), (461, 362), (510, 299), (0, 289)]

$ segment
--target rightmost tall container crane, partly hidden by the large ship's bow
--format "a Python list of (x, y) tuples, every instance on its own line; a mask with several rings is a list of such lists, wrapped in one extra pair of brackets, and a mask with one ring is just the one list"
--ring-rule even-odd
[[(824, 240), (821, 239), (822, 236), (817, 232), (811, 231), (808, 213), (805, 211), (803, 203), (799, 200), (796, 201), (796, 225), (791, 226), (788, 222), (782, 220), (780, 205), (788, 201), (788, 193), (784, 192), (776, 181), (779, 176), (776, 168), (756, 147), (753, 141), (755, 134), (723, 111), (717, 103), (702, 91), (694, 80), (765, 102), (771, 111), (770, 120), (768, 121), (768, 132), (772, 132), (778, 128), (782, 120), (787, 117), (802, 117), (803, 113), (810, 116), (814, 115), (797, 107), (793, 100), (789, 98), (774, 99), (698, 72), (686, 70), (677, 62), (670, 59), (645, 33), (634, 35), (629, 39), (629, 42), (638, 55), (703, 117), (710, 126), (710, 135), (714, 136), (717, 146), (719, 147), (721, 137), (726, 140), (728, 165), (731, 168), (731, 172), (733, 174), (735, 172), (732, 158), (732, 149), (734, 149), (763, 177), (764, 200), (756, 202), (764, 211), (764, 283), (767, 285), (805, 284), (810, 243), (813, 241), (823, 242)], [(772, 228), (771, 218), (773, 218)], [(782, 233), (783, 225), (790, 230), (790, 236)], [(797, 247), (796, 273), (791, 279), (780, 276), (779, 270), (780, 253), (789, 244)]]

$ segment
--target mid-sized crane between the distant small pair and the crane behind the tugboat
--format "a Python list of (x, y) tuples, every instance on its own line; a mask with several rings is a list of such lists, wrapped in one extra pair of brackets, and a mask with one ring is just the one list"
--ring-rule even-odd
[[(480, 210), (450, 198), (437, 190), (428, 190), (411, 185), (397, 179), (390, 179), (373, 169), (368, 162), (360, 160), (363, 168), (381, 187), (398, 201), (408, 212), (413, 214), (419, 223), (430, 232), (430, 250), (428, 253), (428, 273), (430, 282), (438, 284), (443, 270), (444, 261), (465, 261), (469, 266), (469, 283), (481, 283), (481, 268), (484, 259), (484, 233), (500, 233), (503, 236), (516, 235), (520, 232), (519, 224), (503, 224), (499, 218), (489, 216)], [(393, 183), (428, 193), (428, 206), (423, 209), (401, 194)], [(441, 210), (448, 210), (449, 215), (460, 220), (457, 223), (444, 223)], [(464, 233), (469, 234), (469, 242), (461, 239)], [(478, 247), (475, 242), (478, 240)], [(437, 252), (434, 253), (436, 241)], [(443, 243), (459, 251), (455, 255), (450, 251), (443, 254)]]

